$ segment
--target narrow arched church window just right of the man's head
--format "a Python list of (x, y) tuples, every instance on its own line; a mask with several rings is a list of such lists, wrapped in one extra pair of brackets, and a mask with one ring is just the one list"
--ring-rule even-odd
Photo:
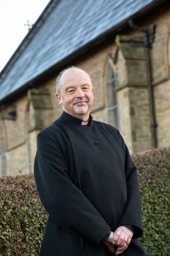
[(105, 65), (104, 73), (104, 86), (105, 86), (105, 108), (107, 110), (107, 122), (119, 128), (118, 125), (118, 102), (117, 102), (117, 80), (116, 69), (113, 61), (108, 59)]

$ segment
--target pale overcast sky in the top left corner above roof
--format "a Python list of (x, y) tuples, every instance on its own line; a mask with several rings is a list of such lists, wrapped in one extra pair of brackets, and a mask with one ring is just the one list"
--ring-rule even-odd
[(50, 0), (0, 0), (0, 72)]

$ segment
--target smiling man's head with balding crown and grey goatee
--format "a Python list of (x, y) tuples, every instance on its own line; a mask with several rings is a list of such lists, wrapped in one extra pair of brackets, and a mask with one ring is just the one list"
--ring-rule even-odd
[(94, 89), (90, 76), (78, 69), (62, 75), (60, 93), (56, 94), (59, 104), (66, 113), (87, 121), (93, 103)]

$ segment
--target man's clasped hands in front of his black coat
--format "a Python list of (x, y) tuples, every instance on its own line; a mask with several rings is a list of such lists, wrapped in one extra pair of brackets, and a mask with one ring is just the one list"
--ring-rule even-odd
[(111, 232), (104, 244), (112, 253), (118, 255), (128, 248), (132, 237), (133, 232), (130, 229), (125, 226), (119, 226), (114, 233)]

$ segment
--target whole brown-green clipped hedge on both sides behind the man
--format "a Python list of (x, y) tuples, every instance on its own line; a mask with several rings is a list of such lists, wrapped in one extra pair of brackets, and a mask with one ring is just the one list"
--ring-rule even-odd
[[(143, 209), (143, 237), (148, 256), (168, 256), (170, 148), (133, 155), (138, 167)], [(0, 177), (0, 256), (37, 256), (46, 212), (33, 175)]]

